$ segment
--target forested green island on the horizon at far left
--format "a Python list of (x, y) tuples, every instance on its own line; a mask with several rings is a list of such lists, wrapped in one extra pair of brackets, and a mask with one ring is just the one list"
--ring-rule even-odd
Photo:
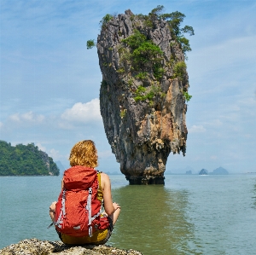
[(0, 176), (58, 176), (60, 170), (48, 154), (34, 143), (0, 141)]

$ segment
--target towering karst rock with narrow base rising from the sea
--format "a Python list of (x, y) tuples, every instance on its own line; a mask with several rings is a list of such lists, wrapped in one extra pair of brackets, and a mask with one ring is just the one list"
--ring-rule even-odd
[(130, 184), (164, 184), (168, 155), (185, 155), (189, 101), (184, 14), (107, 14), (96, 45), (102, 71), (103, 124), (120, 171)]

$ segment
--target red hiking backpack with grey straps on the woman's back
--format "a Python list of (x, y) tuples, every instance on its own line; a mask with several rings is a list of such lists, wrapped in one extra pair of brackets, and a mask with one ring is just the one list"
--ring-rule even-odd
[(72, 236), (92, 236), (108, 229), (108, 218), (101, 217), (102, 202), (97, 199), (97, 171), (75, 165), (64, 172), (64, 188), (55, 207), (55, 228)]

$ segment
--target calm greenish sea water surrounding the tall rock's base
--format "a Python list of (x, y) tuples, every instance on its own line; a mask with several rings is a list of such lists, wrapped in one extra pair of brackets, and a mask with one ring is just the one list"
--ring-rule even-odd
[[(256, 175), (169, 175), (165, 186), (110, 176), (121, 206), (109, 245), (150, 254), (256, 254)], [(61, 177), (0, 177), (0, 248), (56, 241), (49, 204)]]

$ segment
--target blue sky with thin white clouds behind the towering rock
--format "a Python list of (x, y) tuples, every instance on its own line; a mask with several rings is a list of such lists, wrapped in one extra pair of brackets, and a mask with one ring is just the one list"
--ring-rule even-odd
[(34, 142), (68, 167), (76, 142), (96, 142), (98, 169), (119, 171), (102, 124), (96, 39), (105, 14), (186, 15), (189, 37), (187, 153), (170, 154), (166, 171), (219, 166), (256, 172), (255, 0), (0, 0), (0, 140)]

